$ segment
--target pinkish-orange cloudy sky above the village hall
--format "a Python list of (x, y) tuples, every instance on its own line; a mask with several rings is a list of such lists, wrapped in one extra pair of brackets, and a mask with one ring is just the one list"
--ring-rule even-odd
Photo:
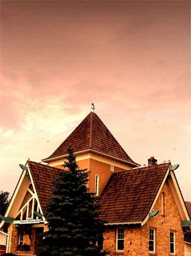
[(191, 201), (190, 1), (1, 0), (1, 188), (90, 113)]

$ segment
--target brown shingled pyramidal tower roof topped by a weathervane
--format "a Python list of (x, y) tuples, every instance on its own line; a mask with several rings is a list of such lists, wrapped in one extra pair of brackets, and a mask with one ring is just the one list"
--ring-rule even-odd
[(129, 161), (134, 166), (136, 164), (124, 151), (118, 141), (113, 137), (96, 113), (90, 112), (89, 115), (76, 127), (64, 142), (50, 155), (51, 159), (67, 155), (67, 148), (71, 145), (74, 152), (92, 149), (113, 157)]

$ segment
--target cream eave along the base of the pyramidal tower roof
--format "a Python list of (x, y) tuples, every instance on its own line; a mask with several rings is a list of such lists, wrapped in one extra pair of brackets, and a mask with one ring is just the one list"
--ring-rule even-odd
[[(94, 150), (94, 149), (84, 149), (84, 150), (80, 150), (80, 151), (77, 151), (77, 152), (74, 152), (75, 155), (77, 154), (80, 154), (80, 153), (83, 153), (83, 152), (96, 152), (96, 153), (99, 153), (100, 155), (103, 155), (103, 156), (106, 156), (106, 157), (111, 157), (112, 159), (114, 160), (118, 160), (118, 161), (122, 161), (122, 162), (125, 162), (129, 165), (131, 165), (132, 167), (139, 167), (140, 165), (135, 163), (135, 162), (130, 162), (130, 161), (127, 161), (127, 160), (124, 160), (124, 159), (121, 159), (121, 158), (118, 158), (118, 157), (114, 157), (114, 156), (111, 156), (109, 154), (106, 154), (106, 153), (103, 153), (103, 152), (100, 152), (98, 150)], [(52, 158), (47, 158), (47, 159), (42, 159), (43, 162), (50, 162), (52, 160), (59, 160), (61, 158), (66, 158), (68, 156), (68, 154), (65, 154), (65, 155), (62, 155), (62, 156), (58, 156), (58, 157), (52, 157)]]

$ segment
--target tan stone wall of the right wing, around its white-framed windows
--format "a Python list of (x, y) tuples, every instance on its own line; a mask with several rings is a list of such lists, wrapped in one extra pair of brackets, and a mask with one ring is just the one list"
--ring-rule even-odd
[[(162, 192), (164, 193), (164, 215), (161, 215)], [(123, 252), (116, 252), (116, 226), (108, 226), (104, 231), (103, 249), (111, 256), (169, 256), (172, 255), (170, 254), (170, 231), (174, 231), (175, 255), (183, 256), (184, 232), (181, 227), (181, 217), (168, 182), (164, 183), (154, 209), (160, 212), (143, 226), (117, 226), (124, 228)], [(149, 253), (149, 228), (155, 229), (155, 253)]]

